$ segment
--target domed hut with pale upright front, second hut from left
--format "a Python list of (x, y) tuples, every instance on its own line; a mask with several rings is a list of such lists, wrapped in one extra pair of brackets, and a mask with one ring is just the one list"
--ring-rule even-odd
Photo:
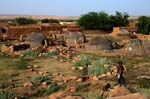
[(81, 32), (66, 32), (64, 33), (64, 39), (67, 45), (74, 45), (84, 43), (85, 36)]

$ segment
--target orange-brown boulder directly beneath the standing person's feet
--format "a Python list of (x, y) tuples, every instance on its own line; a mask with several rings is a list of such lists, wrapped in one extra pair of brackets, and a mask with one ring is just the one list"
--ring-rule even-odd
[(115, 86), (114, 89), (110, 90), (109, 97), (116, 97), (128, 94), (131, 94), (131, 92), (125, 86)]

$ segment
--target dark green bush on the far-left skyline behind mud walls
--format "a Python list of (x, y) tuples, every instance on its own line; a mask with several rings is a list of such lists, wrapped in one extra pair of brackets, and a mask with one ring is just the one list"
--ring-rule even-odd
[(15, 21), (19, 25), (35, 24), (37, 22), (32, 18), (25, 18), (25, 17), (16, 18)]

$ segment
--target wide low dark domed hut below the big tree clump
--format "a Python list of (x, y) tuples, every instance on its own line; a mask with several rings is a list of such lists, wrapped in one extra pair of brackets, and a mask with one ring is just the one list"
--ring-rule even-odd
[(87, 50), (97, 51), (97, 50), (111, 50), (112, 42), (104, 37), (94, 37), (92, 38), (88, 45)]

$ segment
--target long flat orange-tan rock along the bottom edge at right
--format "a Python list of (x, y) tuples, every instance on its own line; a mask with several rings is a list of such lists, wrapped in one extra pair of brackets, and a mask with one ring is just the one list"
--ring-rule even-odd
[(148, 97), (140, 93), (133, 93), (118, 97), (108, 97), (106, 99), (148, 99)]

